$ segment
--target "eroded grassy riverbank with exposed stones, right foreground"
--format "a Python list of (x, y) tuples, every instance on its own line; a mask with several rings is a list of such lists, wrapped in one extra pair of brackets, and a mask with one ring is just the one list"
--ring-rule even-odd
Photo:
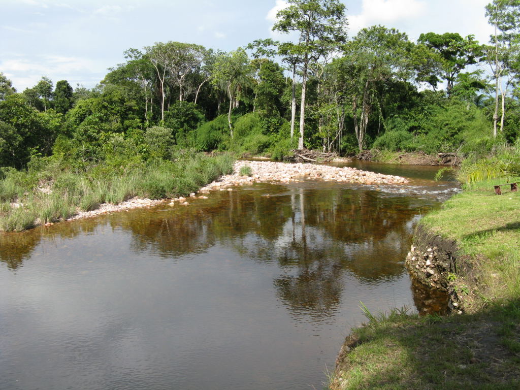
[(331, 389), (520, 388), (520, 196), (497, 196), (494, 184), (503, 183), (478, 183), (426, 215), (408, 255), (417, 279), (450, 294), (452, 315), (366, 310)]

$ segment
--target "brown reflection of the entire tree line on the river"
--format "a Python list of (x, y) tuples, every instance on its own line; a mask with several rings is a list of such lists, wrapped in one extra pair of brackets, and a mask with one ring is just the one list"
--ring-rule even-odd
[[(256, 190), (212, 193), (210, 199), (191, 203), (101, 220), (114, 230), (131, 232), (137, 253), (171, 259), (220, 244), (257, 262), (276, 262), (282, 270), (274, 281), (281, 301), (293, 312), (313, 316), (331, 313), (337, 306), (345, 271), (363, 281), (402, 275), (409, 222), (424, 206), (413, 198), (330, 185), (259, 185)], [(84, 220), (3, 236), (0, 259), (16, 268), (42, 235), (69, 238), (98, 225), (99, 220)]]

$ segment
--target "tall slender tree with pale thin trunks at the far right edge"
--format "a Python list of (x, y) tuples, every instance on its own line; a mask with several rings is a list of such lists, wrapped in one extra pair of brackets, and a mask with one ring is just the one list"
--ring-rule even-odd
[[(502, 86), (502, 77), (508, 73), (508, 61), (511, 57), (518, 57), (520, 45), (520, 1), (493, 0), (486, 6), (488, 22), (494, 28), (491, 36), (492, 46), (487, 48), (487, 60), (495, 79), (495, 112), (493, 113), (493, 137), (497, 137), (498, 96), (502, 98), (502, 131), (505, 116), (505, 90)], [(516, 52), (516, 54), (515, 54)], [(516, 72), (520, 69), (516, 69)], [(506, 85), (507, 88), (507, 85)]]

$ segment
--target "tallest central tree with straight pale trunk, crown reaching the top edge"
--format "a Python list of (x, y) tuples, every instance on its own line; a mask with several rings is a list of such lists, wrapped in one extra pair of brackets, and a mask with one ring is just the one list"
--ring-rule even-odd
[(289, 7), (278, 11), (277, 18), (278, 21), (272, 28), (274, 31), (300, 34), (298, 43), (286, 48), (288, 54), (301, 60), (302, 102), (298, 148), (303, 149), (309, 64), (339, 48), (346, 41), (345, 5), (339, 0), (289, 0)]

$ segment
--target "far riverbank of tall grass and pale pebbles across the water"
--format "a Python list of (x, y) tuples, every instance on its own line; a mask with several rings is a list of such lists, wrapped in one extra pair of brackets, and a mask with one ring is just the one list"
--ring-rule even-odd
[[(280, 163), (272, 161), (236, 161), (232, 164), (229, 157), (197, 157), (191, 162), (181, 162), (172, 172), (133, 173), (117, 178), (105, 185), (97, 197), (88, 187), (84, 178), (69, 177), (74, 188), (69, 185), (64, 191), (56, 183), (40, 184), (32, 198), (25, 195), (11, 199), (0, 209), (0, 231), (21, 231), (38, 225), (52, 225), (61, 220), (76, 220), (102, 214), (150, 207), (170, 200), (170, 205), (188, 205), (189, 198), (205, 198), (212, 190), (232, 190), (232, 187), (252, 183), (290, 183), (304, 178), (366, 185), (398, 185), (408, 181), (404, 177), (383, 175), (357, 170), (350, 167), (335, 167), (308, 163)], [(186, 170), (185, 167), (188, 167)], [(246, 168), (245, 171), (242, 171)], [(168, 177), (169, 176), (169, 177)], [(211, 181), (212, 179), (215, 179)], [(155, 181), (153, 181), (155, 179)], [(211, 181), (211, 183), (209, 183)], [(81, 183), (82, 188), (75, 184)], [(209, 183), (209, 184), (208, 184)], [(98, 185), (100, 183), (98, 182)], [(118, 185), (119, 187), (116, 187)], [(150, 189), (150, 187), (152, 187)], [(159, 187), (159, 188), (154, 188)], [(75, 196), (71, 192), (76, 190)], [(112, 202), (101, 202), (108, 195), (118, 191)], [(16, 191), (15, 191), (16, 192)], [(20, 190), (18, 190), (20, 192)], [(149, 194), (157, 196), (150, 198)], [(129, 199), (132, 197), (132, 199)], [(188, 198), (187, 198), (188, 197)], [(27, 199), (27, 200), (25, 200)], [(88, 201), (88, 202), (87, 202)], [(38, 207), (43, 207), (37, 213)]]

